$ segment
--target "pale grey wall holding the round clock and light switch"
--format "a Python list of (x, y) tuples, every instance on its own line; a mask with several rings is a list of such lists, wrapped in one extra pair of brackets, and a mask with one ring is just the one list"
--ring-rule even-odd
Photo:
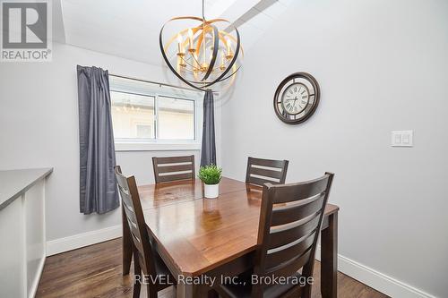
[[(288, 182), (334, 172), (340, 254), (448, 297), (447, 53), (447, 1), (294, 2), (247, 53), (223, 106), (225, 175), (244, 179), (247, 156), (289, 159)], [(272, 98), (299, 71), (322, 101), (289, 126)], [(407, 129), (415, 147), (392, 148), (391, 131)]]

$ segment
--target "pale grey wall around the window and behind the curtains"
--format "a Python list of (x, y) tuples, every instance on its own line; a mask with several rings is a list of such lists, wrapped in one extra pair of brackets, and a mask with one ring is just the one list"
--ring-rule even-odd
[[(55, 44), (53, 62), (0, 64), (0, 168), (53, 166), (47, 181), (47, 240), (55, 240), (120, 224), (119, 209), (105, 215), (79, 212), (79, 131), (76, 64), (109, 72), (166, 82), (165, 69)], [(170, 81), (180, 85), (177, 81)], [(220, 158), (220, 109), (216, 109)], [(137, 183), (153, 181), (152, 156), (199, 151), (117, 152), (116, 163)]]

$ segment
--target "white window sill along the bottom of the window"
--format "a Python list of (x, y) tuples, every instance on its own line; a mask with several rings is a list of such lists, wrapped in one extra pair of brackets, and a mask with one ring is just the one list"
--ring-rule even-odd
[(116, 142), (116, 151), (183, 151), (201, 150), (201, 143), (192, 142)]

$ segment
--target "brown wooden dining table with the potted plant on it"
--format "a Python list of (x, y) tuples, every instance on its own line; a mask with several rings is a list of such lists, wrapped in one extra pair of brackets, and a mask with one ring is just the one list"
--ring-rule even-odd
[[(177, 297), (212, 296), (210, 285), (253, 267), (263, 188), (223, 177), (217, 199), (204, 199), (199, 180), (138, 188), (150, 236), (178, 280)], [(327, 204), (321, 231), (321, 292), (337, 297), (338, 211)], [(123, 274), (129, 274), (132, 240), (123, 222)], [(205, 278), (204, 278), (205, 277)], [(190, 283), (187, 283), (190, 281)]]

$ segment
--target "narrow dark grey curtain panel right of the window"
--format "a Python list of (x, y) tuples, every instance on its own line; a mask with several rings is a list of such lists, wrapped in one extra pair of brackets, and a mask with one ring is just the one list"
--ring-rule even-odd
[(207, 90), (203, 98), (201, 166), (216, 165), (215, 115), (213, 92)]

